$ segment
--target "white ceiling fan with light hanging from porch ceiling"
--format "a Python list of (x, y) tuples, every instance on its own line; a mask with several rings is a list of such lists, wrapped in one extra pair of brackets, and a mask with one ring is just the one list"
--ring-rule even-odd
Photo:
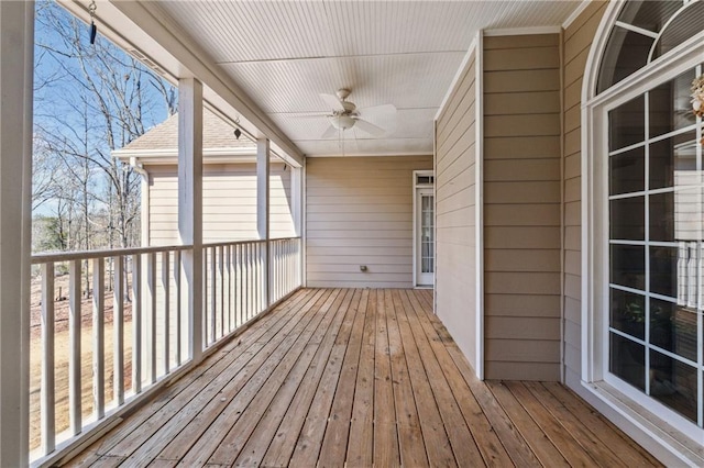
[(344, 131), (350, 129), (359, 129), (371, 136), (380, 137), (395, 127), (396, 108), (394, 104), (358, 109), (354, 102), (348, 101), (351, 92), (348, 88), (341, 88), (338, 89), (336, 96), (320, 94), (320, 98), (332, 108), (332, 113), (323, 114), (330, 122), (330, 126), (321, 135), (323, 138), (341, 136)]

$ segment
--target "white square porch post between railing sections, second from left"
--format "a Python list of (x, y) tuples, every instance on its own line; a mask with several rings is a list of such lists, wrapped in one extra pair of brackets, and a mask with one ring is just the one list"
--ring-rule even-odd
[(185, 250), (182, 268), (188, 294), (189, 354), (202, 358), (202, 83), (194, 78), (178, 81), (178, 233)]

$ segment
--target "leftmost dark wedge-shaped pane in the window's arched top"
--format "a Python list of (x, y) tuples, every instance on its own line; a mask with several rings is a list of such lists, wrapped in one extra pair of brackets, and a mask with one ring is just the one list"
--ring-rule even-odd
[(614, 26), (598, 73), (596, 92), (602, 92), (648, 63), (653, 38)]

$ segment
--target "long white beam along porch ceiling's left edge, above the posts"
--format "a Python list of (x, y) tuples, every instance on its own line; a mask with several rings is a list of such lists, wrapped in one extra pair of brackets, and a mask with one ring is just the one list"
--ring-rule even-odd
[[(88, 1), (58, 0), (82, 21), (89, 20)], [(164, 70), (176, 83), (178, 78), (197, 78), (204, 83), (204, 99), (219, 109), (245, 133), (272, 142), (274, 153), (297, 167), (304, 154), (242, 89), (215, 64), (197, 44), (178, 34), (174, 24), (155, 13), (157, 2), (99, 1), (96, 11), (98, 33), (125, 51), (136, 49)]]

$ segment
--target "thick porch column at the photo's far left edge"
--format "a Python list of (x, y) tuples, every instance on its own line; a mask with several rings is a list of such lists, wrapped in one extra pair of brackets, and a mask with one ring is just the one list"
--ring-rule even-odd
[(29, 465), (33, 47), (34, 2), (0, 1), (1, 467)]

